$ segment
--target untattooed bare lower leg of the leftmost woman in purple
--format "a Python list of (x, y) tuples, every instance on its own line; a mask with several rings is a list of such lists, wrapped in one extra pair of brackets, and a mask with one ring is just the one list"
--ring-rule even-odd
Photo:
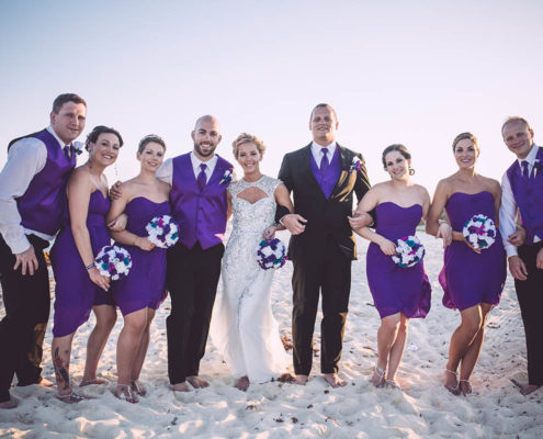
[(92, 329), (89, 340), (87, 341), (87, 359), (84, 362), (81, 386), (106, 383), (105, 380), (97, 380), (98, 362), (102, 356), (105, 344), (108, 342), (108, 337), (117, 319), (117, 312), (114, 306), (98, 305), (93, 306), (92, 311), (97, 316), (97, 325)]

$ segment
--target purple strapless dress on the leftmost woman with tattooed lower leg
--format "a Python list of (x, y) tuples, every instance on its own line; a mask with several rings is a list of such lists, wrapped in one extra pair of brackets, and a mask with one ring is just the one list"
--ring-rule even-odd
[[(98, 190), (92, 192), (87, 214), (87, 228), (94, 256), (103, 246), (109, 246), (111, 243), (105, 225), (105, 214), (109, 210), (110, 199)], [(69, 224), (60, 230), (53, 245), (50, 263), (56, 282), (53, 335), (64, 337), (75, 333), (89, 319), (97, 294), (111, 296), (111, 293), (103, 291), (90, 280)]]

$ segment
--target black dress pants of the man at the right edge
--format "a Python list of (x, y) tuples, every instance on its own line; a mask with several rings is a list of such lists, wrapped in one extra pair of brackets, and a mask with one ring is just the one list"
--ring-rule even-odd
[(528, 279), (514, 280), (520, 312), (524, 324), (528, 353), (528, 383), (543, 385), (543, 339), (541, 313), (543, 312), (543, 270), (535, 267), (543, 241), (533, 246), (520, 246), (519, 256), (527, 266)]

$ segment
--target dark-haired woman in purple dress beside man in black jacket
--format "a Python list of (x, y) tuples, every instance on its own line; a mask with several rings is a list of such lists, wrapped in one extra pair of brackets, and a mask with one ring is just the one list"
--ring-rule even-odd
[[(430, 309), (431, 288), (422, 261), (410, 268), (397, 266), (396, 240), (415, 235), (430, 207), (428, 191), (415, 184), (411, 156), (404, 145), (391, 145), (382, 156), (391, 181), (375, 184), (360, 201), (355, 214), (375, 209), (377, 228), (355, 230), (371, 240), (366, 257), (370, 291), (381, 316), (378, 359), (371, 382), (399, 389), (395, 378), (404, 354), (409, 318), (423, 318)], [(352, 224), (352, 223), (351, 223)]]

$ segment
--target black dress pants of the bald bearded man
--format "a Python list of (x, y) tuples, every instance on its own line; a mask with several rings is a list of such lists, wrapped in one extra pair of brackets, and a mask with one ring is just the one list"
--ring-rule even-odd
[(199, 374), (224, 251), (223, 244), (203, 250), (200, 243), (191, 249), (178, 243), (168, 250), (167, 286), (171, 313), (166, 319), (166, 329), (171, 384)]

